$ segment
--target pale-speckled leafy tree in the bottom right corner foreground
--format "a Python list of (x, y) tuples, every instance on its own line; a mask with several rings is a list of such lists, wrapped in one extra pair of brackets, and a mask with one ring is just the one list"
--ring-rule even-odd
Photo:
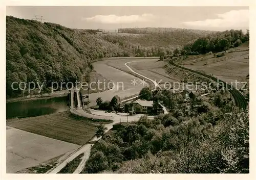
[(249, 173), (249, 111), (227, 114), (219, 135), (224, 173)]

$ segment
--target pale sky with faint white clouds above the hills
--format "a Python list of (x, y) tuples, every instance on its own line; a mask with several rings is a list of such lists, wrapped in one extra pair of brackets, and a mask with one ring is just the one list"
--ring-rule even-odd
[(212, 31), (249, 29), (249, 7), (7, 6), (6, 14), (54, 22), (74, 29), (186, 28)]

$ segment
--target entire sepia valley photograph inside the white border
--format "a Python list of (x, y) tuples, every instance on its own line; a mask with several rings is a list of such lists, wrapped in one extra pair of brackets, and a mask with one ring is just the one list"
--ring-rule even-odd
[(6, 6), (5, 33), (5, 173), (250, 172), (249, 6)]

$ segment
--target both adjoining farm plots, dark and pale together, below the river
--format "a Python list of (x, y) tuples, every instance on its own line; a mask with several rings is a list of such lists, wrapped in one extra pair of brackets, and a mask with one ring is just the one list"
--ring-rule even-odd
[(7, 120), (7, 173), (38, 166), (87, 143), (94, 136), (99, 121), (69, 111)]

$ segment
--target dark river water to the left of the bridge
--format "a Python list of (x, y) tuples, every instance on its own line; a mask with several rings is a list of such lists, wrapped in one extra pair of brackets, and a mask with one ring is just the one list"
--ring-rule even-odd
[(23, 100), (6, 104), (6, 118), (34, 117), (67, 111), (68, 98), (54, 97), (49, 99)]

